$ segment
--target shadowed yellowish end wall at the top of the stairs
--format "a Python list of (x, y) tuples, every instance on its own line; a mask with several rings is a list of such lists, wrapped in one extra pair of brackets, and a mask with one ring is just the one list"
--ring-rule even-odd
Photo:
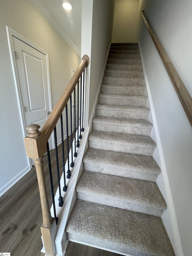
[(115, 0), (113, 43), (137, 43), (140, 0)]

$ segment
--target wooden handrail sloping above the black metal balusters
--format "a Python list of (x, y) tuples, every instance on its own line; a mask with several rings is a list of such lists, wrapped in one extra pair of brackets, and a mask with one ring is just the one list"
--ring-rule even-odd
[(88, 67), (88, 65), (89, 65), (89, 57), (87, 55), (84, 55), (82, 57), (81, 64), (75, 71), (75, 74), (71, 78), (70, 82), (68, 83), (67, 87), (65, 88), (60, 99), (58, 100), (57, 104), (53, 108), (49, 118), (46, 120), (44, 126), (41, 129), (41, 133), (45, 135), (46, 142), (48, 141), (49, 137), (51, 136), (51, 133), (54, 130), (55, 125), (58, 122), (58, 119), (60, 118), (60, 116), (67, 104), (67, 101), (69, 100), (77, 82), (79, 81), (79, 78), (81, 77), (83, 70), (86, 67)]

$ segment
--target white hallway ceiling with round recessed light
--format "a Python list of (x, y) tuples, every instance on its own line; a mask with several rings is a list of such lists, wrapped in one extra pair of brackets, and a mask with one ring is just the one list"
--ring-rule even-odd
[(62, 7), (64, 0), (31, 0), (68, 44), (81, 55), (82, 0), (70, 0), (72, 10)]

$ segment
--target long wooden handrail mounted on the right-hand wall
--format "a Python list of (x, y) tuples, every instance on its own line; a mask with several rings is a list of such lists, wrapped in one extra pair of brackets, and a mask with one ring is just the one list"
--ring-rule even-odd
[(152, 37), (152, 40), (158, 50), (158, 53), (163, 61), (163, 64), (167, 70), (167, 73), (171, 79), (171, 82), (173, 83), (173, 86), (176, 90), (179, 100), (181, 101), (181, 104), (184, 108), (187, 118), (189, 119), (189, 122), (192, 126), (192, 98), (191, 98), (190, 94), (188, 93), (186, 87), (184, 86), (184, 83), (182, 82), (181, 78), (179, 77), (179, 74), (177, 73), (176, 69), (174, 68), (173, 63), (171, 62), (170, 58), (168, 57), (166, 51), (164, 50), (162, 44), (160, 43), (157, 35), (155, 34), (155, 31), (152, 29), (148, 20), (144, 16), (143, 11), (141, 11), (141, 14), (142, 14), (143, 20), (146, 24), (146, 27), (149, 31), (149, 34)]

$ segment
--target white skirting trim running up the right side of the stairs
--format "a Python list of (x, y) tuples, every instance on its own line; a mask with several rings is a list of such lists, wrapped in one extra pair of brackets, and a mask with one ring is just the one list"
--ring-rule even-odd
[(149, 82), (148, 82), (148, 78), (147, 78), (147, 74), (146, 74), (145, 63), (144, 63), (144, 59), (143, 59), (140, 42), (139, 42), (139, 48), (140, 48), (141, 60), (142, 60), (142, 64), (143, 64), (143, 73), (144, 73), (144, 77), (145, 77), (145, 81), (146, 81), (146, 88), (147, 88), (148, 97), (149, 97), (150, 109), (151, 109), (152, 118), (153, 118), (153, 125), (154, 125), (154, 129), (155, 129), (159, 157), (160, 157), (160, 161), (161, 161), (161, 171), (163, 174), (165, 191), (166, 191), (166, 195), (167, 195), (167, 205), (168, 205), (168, 209), (169, 209), (169, 213), (170, 213), (171, 225), (172, 225), (173, 236), (174, 236), (174, 241), (175, 241), (175, 253), (177, 256), (184, 256), (181, 239), (180, 239), (180, 235), (179, 235), (179, 228), (178, 228), (177, 219), (176, 219), (175, 208), (174, 208), (174, 204), (173, 204), (173, 198), (172, 198), (170, 184), (169, 184), (169, 179), (167, 176), (167, 169), (166, 169), (164, 153), (163, 153), (163, 149), (162, 149), (162, 145), (161, 145), (161, 138), (160, 138), (160, 134), (159, 134), (159, 130), (158, 130), (157, 119), (155, 116), (155, 109), (153, 106), (152, 95), (151, 95)]

